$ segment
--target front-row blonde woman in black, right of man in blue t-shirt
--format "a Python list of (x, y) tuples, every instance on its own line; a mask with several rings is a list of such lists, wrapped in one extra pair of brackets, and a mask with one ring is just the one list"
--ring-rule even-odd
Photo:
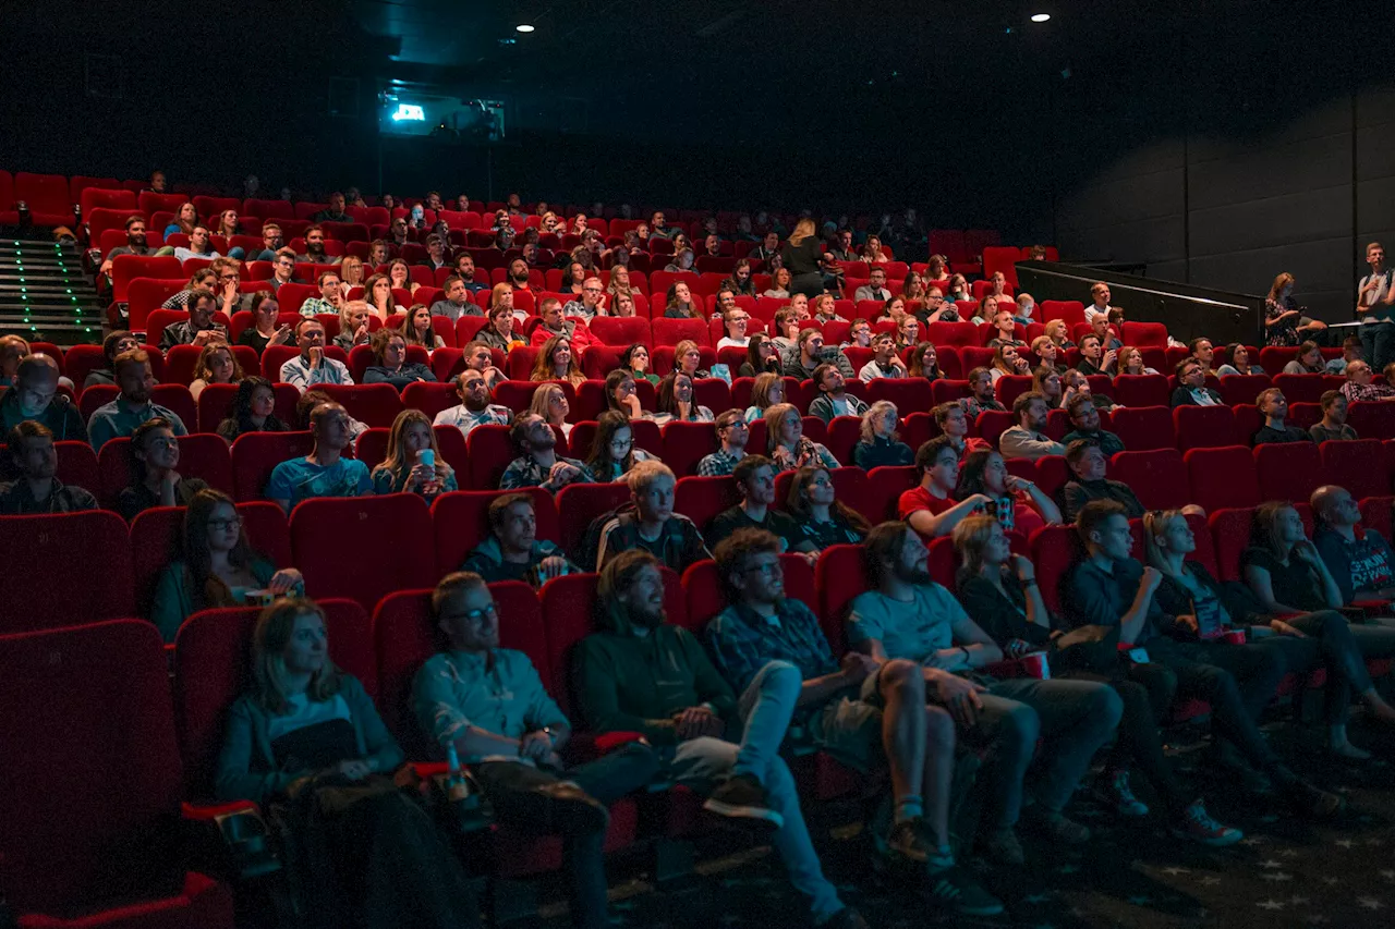
[(1052, 615), (1036, 586), (1035, 568), (1025, 557), (1013, 554), (1002, 523), (992, 516), (965, 518), (954, 527), (954, 548), (963, 562), (956, 576), (958, 600), (1007, 658), (1043, 651), (1052, 678), (1105, 681), (1122, 697), (1123, 717), (1101, 784), (1108, 805), (1126, 817), (1148, 815), (1129, 785), (1129, 769), (1137, 764), (1166, 808), (1175, 836), (1212, 847), (1244, 838), (1240, 830), (1211, 819), (1201, 798), (1177, 780), (1158, 731), (1158, 718), (1168, 707), (1152, 706), (1148, 689), (1123, 675), (1103, 678), (1056, 661), (1062, 653), (1055, 649)]

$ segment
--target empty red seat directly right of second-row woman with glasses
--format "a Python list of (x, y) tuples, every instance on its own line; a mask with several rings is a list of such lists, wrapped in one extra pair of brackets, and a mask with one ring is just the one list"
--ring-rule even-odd
[[(311, 597), (352, 597), (371, 610), (393, 590), (437, 580), (431, 511), (414, 494), (319, 497), (290, 515), (290, 544)], [(354, 571), (346, 552), (371, 571)], [(354, 562), (357, 564), (357, 562)]]

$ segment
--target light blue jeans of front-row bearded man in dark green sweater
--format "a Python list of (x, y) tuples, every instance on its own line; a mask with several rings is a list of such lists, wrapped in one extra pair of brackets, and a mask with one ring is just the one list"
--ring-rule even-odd
[(794, 776), (780, 757), (780, 743), (790, 728), (802, 686), (804, 677), (788, 661), (771, 661), (760, 668), (738, 703), (745, 725), (741, 743), (706, 735), (688, 739), (678, 745), (665, 773), (699, 792), (732, 774), (751, 774), (759, 780), (766, 788), (770, 809), (784, 820), (776, 831), (774, 847), (790, 872), (790, 883), (809, 898), (815, 922), (823, 922), (843, 909), (843, 902), (837, 889), (823, 876), (809, 827), (799, 810)]

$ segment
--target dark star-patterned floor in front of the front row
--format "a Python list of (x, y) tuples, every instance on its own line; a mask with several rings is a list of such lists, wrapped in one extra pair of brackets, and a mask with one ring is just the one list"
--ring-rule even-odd
[[(1244, 830), (1244, 841), (1232, 848), (1172, 838), (1155, 817), (1141, 826), (1123, 823), (1083, 790), (1070, 810), (1095, 831), (1088, 845), (1050, 847), (1024, 833), (1025, 868), (983, 866), (976, 872), (1007, 904), (1002, 916), (956, 918), (917, 905), (908, 893), (873, 873), (855, 840), (830, 843), (824, 866), (844, 901), (858, 907), (873, 929), (1395, 925), (1395, 734), (1353, 724), (1353, 741), (1375, 756), (1342, 762), (1318, 752), (1317, 725), (1271, 724), (1267, 732), (1295, 769), (1348, 798), (1349, 809), (1341, 819), (1309, 824), (1271, 798), (1226, 790), (1198, 769), (1198, 734), (1191, 732), (1169, 750), (1189, 783), (1205, 791), (1211, 810)], [(1137, 776), (1134, 780), (1137, 784)], [(1140, 787), (1138, 794), (1145, 791)], [(702, 873), (674, 889), (617, 884), (615, 922), (646, 929), (806, 926), (801, 900), (766, 851), (703, 862)], [(565, 908), (550, 907), (544, 914), (540, 925), (547, 929), (569, 925)]]

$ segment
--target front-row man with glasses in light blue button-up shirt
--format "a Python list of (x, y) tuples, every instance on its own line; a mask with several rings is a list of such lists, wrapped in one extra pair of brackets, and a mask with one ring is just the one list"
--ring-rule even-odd
[(504, 823), (562, 836), (572, 925), (610, 926), (603, 845), (608, 806), (654, 777), (658, 759), (631, 742), (568, 767), (571, 724), (522, 651), (499, 647), (501, 617), (484, 579), (446, 575), (431, 614), (449, 650), (427, 658), (412, 682), (417, 725), (435, 756), (459, 759)]

